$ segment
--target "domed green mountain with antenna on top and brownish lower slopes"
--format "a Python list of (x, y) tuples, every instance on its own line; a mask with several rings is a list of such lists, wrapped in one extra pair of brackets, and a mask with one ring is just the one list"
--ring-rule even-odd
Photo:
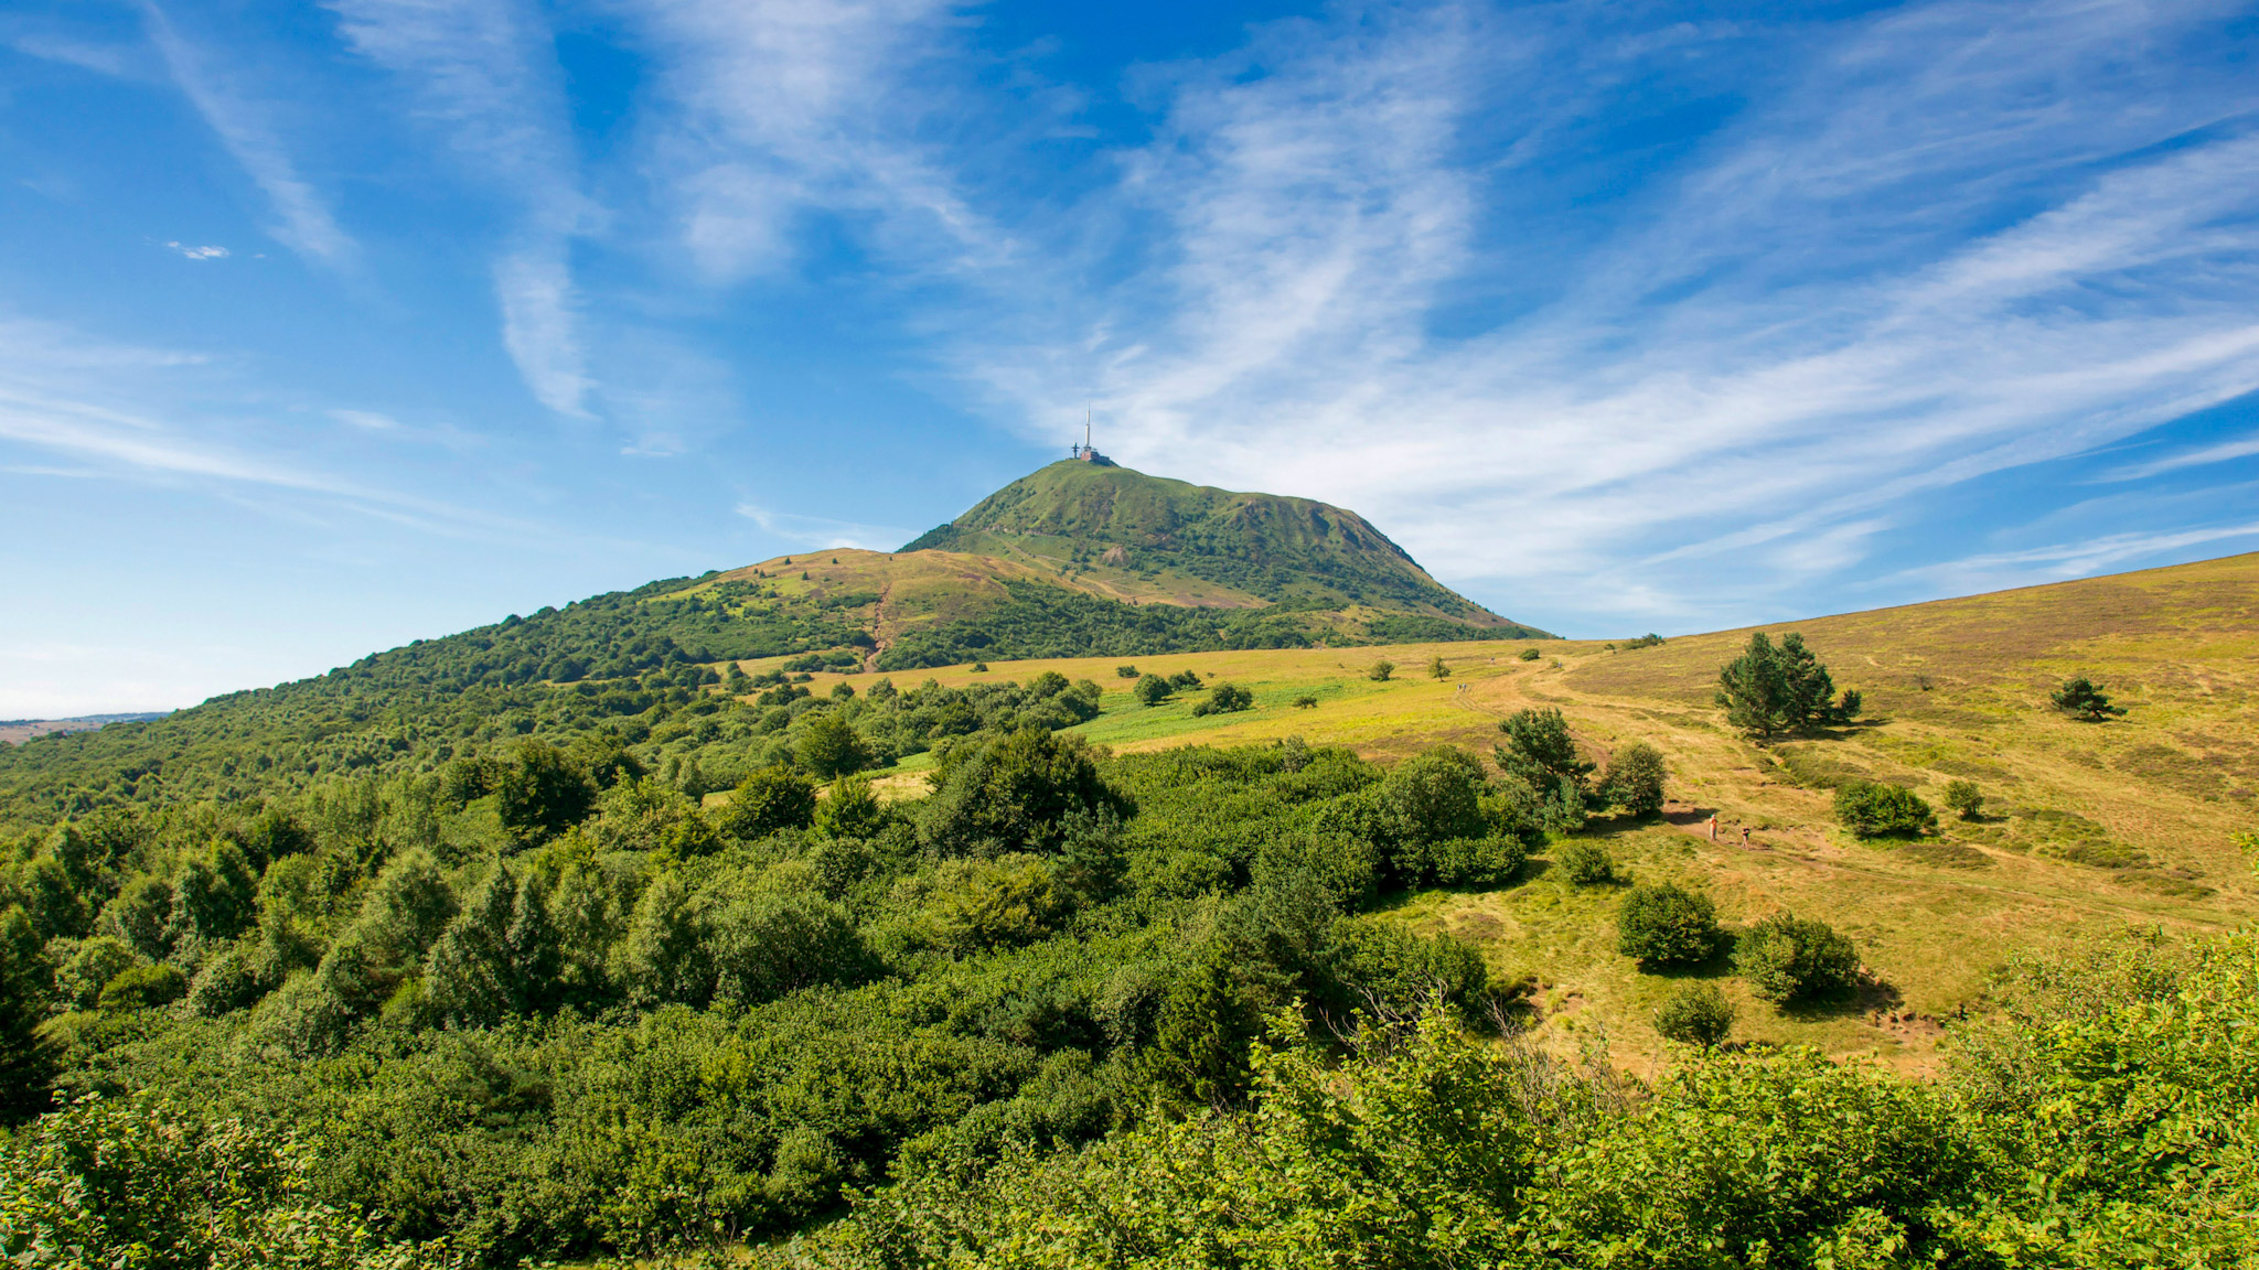
[(901, 551), (779, 556), (666, 599), (791, 630), (806, 660), (881, 671), (1545, 635), (1437, 583), (1353, 511), (1096, 456), (1030, 472)]

